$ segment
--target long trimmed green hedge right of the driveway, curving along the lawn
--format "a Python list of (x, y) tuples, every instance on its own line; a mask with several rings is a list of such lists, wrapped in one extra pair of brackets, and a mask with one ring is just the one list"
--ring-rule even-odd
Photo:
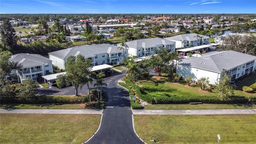
[[(125, 81), (126, 85), (128, 87), (132, 87), (132, 89), (135, 89), (134, 84), (130, 81), (130, 79), (123, 78)], [(241, 97), (241, 96), (233, 96), (230, 99), (225, 99), (222, 100), (219, 97), (212, 95), (205, 95), (205, 96), (195, 96), (195, 95), (190, 95), (190, 96), (171, 96), (171, 97), (166, 97), (164, 95), (151, 95), (146, 93), (143, 90), (143, 87), (137, 86), (137, 91), (136, 94), (138, 97), (148, 103), (151, 104), (184, 104), (184, 103), (190, 103), (190, 102), (203, 102), (203, 103), (219, 103), (219, 104), (235, 104), (235, 103), (251, 103), (251, 102), (256, 102), (256, 97)]]

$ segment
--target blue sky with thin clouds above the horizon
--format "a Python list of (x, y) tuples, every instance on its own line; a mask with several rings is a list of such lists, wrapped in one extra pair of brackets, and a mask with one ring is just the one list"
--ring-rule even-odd
[(256, 0), (0, 0), (0, 13), (256, 13)]

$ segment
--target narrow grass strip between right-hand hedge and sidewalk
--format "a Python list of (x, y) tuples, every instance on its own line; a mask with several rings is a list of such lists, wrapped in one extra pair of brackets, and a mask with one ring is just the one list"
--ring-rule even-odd
[(199, 105), (148, 105), (144, 106), (144, 109), (256, 109), (256, 105), (246, 105), (246, 104), (199, 104)]

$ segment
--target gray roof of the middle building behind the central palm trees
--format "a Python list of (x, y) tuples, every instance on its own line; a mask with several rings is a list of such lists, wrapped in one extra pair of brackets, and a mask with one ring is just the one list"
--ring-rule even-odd
[[(143, 43), (145, 43), (145, 46)], [(170, 45), (170, 44), (175, 44), (175, 42), (156, 37), (156, 38), (137, 39), (134, 41), (126, 42), (125, 44), (128, 47), (139, 48), (139, 47), (154, 47), (156, 45), (161, 45), (161, 44)]]

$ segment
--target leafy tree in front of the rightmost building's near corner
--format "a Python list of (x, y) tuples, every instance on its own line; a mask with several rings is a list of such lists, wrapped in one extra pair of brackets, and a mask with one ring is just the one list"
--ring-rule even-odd
[(219, 82), (215, 83), (213, 91), (222, 99), (228, 99), (234, 95), (234, 86), (229, 84), (228, 76), (222, 77)]

